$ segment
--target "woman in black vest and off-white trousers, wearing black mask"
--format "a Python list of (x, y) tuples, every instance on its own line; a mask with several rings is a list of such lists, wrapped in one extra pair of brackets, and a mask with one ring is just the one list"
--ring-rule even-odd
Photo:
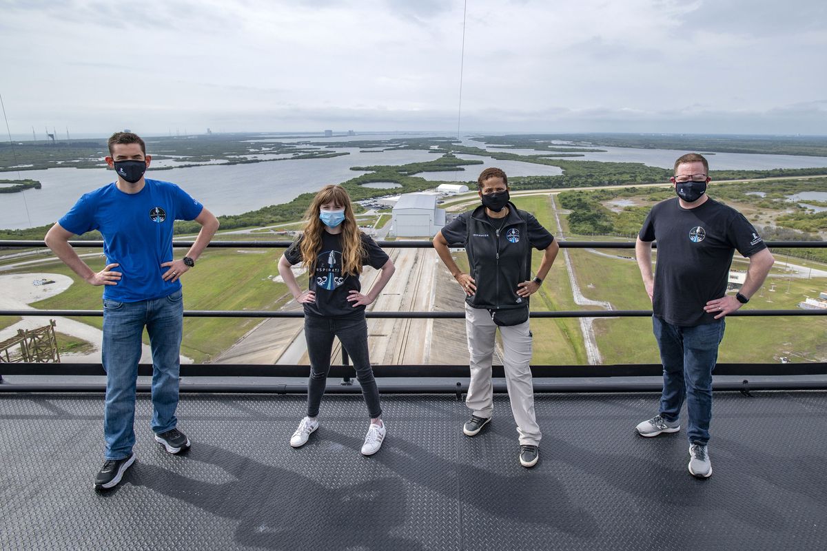
[[(466, 334), (471, 356), (466, 406), (471, 409), (471, 419), (462, 431), (475, 436), (491, 420), (491, 360), (500, 327), (505, 384), (519, 433), (519, 461), (523, 467), (533, 467), (539, 458), (542, 435), (534, 415), (528, 297), (543, 284), (559, 247), (534, 216), (509, 202), (508, 178), (502, 170), (483, 170), (477, 183), (482, 204), (457, 216), (433, 238), (433, 248), (466, 293)], [(471, 273), (461, 272), (448, 250), (449, 244), (465, 247)], [(544, 251), (534, 278), (532, 247)]]

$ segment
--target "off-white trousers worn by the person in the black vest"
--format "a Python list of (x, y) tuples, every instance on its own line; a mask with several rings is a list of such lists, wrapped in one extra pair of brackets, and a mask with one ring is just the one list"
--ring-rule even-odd
[[(471, 383), (466, 406), (475, 416), (488, 418), (494, 410), (494, 385), (491, 358), (494, 355), (497, 327), (485, 308), (472, 308), (466, 302), (466, 333), (471, 356)], [(540, 427), (534, 414), (534, 389), (531, 382), (532, 337), (528, 321), (501, 326), (503, 337), (505, 387), (509, 391), (511, 412), (517, 422), (520, 444), (540, 444)]]

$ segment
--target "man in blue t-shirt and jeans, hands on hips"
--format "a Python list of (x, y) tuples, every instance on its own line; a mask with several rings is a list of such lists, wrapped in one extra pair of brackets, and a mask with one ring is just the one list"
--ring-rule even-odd
[[(178, 375), (184, 303), (180, 277), (218, 230), (218, 220), (174, 183), (148, 180), (151, 157), (131, 132), (108, 141), (107, 164), (117, 181), (86, 193), (45, 236), (58, 258), (92, 285), (103, 285), (103, 368), (107, 373), (103, 433), (106, 454), (94, 487), (121, 482), (135, 462), (135, 392), (144, 327), (152, 347), (152, 430), (170, 454), (189, 449), (177, 429)], [(198, 238), (183, 259), (172, 254), (173, 224), (194, 220)], [(69, 245), (72, 235), (98, 230), (107, 264), (100, 272)]]

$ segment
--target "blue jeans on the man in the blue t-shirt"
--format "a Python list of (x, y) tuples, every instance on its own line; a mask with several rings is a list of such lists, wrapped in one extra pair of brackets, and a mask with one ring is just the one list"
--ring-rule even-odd
[(144, 326), (152, 347), (152, 430), (156, 434), (178, 424), (179, 354), (184, 324), (181, 291), (151, 301), (103, 301), (103, 368), (106, 405), (103, 435), (106, 458), (122, 459), (135, 445), (135, 392)]

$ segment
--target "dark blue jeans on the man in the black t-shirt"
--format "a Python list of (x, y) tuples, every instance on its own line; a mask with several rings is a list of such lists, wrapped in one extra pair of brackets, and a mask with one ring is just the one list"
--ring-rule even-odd
[(724, 318), (684, 327), (653, 316), (652, 324), (663, 363), (661, 416), (675, 422), (686, 397), (686, 435), (691, 444), (706, 445), (712, 419), (712, 370), (724, 338)]

